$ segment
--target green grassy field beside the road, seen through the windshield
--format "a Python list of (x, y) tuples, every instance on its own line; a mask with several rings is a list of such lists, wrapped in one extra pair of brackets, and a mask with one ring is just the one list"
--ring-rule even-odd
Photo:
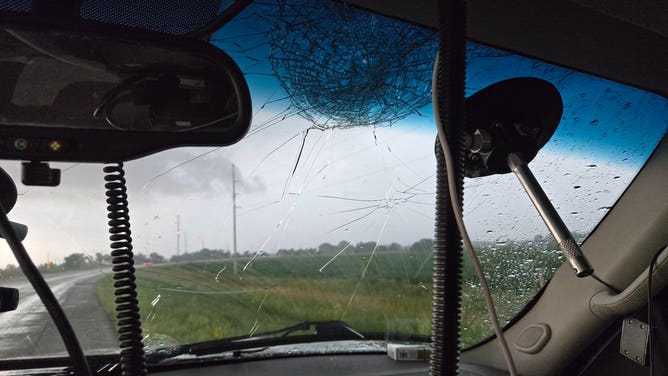
[[(245, 271), (248, 260), (240, 259), (236, 275), (231, 260), (139, 268), (145, 342), (161, 347), (332, 319), (360, 332), (429, 335), (431, 253), (377, 253), (366, 267), (368, 257), (343, 254), (322, 271), (331, 256), (258, 258)], [(464, 283), (463, 294), (461, 342), (467, 347), (492, 331), (479, 291)], [(97, 295), (115, 321), (110, 279), (97, 282)], [(503, 319), (517, 311), (520, 298), (497, 292)]]

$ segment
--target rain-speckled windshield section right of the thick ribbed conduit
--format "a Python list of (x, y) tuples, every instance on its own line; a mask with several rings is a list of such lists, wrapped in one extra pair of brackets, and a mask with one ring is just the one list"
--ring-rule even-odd
[[(555, 134), (530, 163), (578, 242), (615, 204), (666, 133), (668, 101), (584, 73), (469, 43), (467, 95), (511, 77), (538, 77), (561, 93)], [(467, 179), (464, 218), (508, 322), (548, 283), (563, 258), (513, 174)], [(462, 343), (492, 329), (471, 268), (464, 267)], [(472, 313), (469, 313), (472, 312)]]

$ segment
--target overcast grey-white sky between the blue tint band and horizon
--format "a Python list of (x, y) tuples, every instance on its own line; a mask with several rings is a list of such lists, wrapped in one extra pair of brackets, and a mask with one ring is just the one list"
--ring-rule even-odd
[[(175, 149), (128, 162), (135, 251), (175, 254), (177, 215), (181, 252), (231, 249), (232, 163), (241, 252), (341, 240), (410, 244), (432, 237), (433, 129), (400, 124), (310, 131), (291, 176), (307, 127), (292, 118), (171, 171), (212, 148)], [(60, 262), (72, 252), (108, 252), (101, 165), (60, 164), (62, 184), (56, 188), (22, 186), (18, 162), (1, 166), (22, 193), (10, 218), (29, 226), (25, 244), (36, 263)], [(593, 228), (632, 179), (634, 171), (621, 166), (549, 147), (532, 162), (566, 223), (578, 231)], [(474, 238), (504, 241), (546, 233), (513, 175), (472, 179), (466, 186), (466, 220)], [(14, 260), (3, 244), (0, 264), (7, 263)]]

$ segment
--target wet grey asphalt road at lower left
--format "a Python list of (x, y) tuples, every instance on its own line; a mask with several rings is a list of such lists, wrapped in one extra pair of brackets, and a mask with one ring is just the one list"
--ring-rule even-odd
[[(45, 276), (85, 353), (118, 348), (113, 325), (95, 295), (99, 278), (105, 278), (99, 270)], [(15, 278), (0, 280), (0, 286), (18, 288), (20, 296), (15, 311), (0, 313), (0, 359), (66, 355), (58, 330), (30, 283)]]

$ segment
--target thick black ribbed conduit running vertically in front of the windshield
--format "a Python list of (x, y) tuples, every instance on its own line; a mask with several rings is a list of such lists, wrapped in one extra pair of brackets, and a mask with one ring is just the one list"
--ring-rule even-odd
[[(463, 197), (464, 69), (466, 7), (463, 0), (442, 1), (439, 14), (439, 64), (436, 91), (438, 116), (445, 125), (455, 163), (457, 201)], [(461, 311), (462, 239), (448, 192), (448, 178), (440, 143), (437, 142), (436, 220), (432, 303), (431, 375), (457, 375)]]

